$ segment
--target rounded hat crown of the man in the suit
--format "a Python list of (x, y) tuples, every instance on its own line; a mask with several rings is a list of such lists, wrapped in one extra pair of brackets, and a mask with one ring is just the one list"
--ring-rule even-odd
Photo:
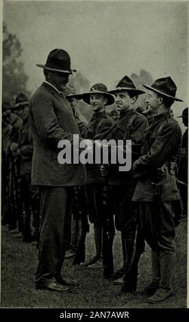
[(71, 69), (71, 58), (63, 49), (53, 49), (49, 53), (45, 65), (48, 67), (53, 67), (55, 69), (63, 69), (69, 71)]

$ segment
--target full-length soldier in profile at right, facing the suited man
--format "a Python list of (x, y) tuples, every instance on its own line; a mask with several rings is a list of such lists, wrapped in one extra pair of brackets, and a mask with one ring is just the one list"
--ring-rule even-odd
[(133, 201), (140, 203), (142, 234), (151, 247), (153, 280), (142, 292), (150, 295), (149, 303), (158, 303), (173, 295), (171, 277), (174, 267), (175, 212), (179, 191), (175, 179), (175, 163), (181, 145), (181, 129), (170, 108), (177, 86), (171, 77), (155, 80), (146, 103), (154, 121), (144, 133), (142, 156), (134, 162), (138, 179)]

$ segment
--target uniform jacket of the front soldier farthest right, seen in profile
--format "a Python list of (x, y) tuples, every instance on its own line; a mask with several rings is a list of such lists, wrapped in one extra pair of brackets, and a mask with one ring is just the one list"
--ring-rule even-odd
[[(170, 112), (154, 116), (144, 133), (142, 156), (134, 162), (134, 177), (138, 178), (133, 201), (153, 201), (153, 182), (162, 182), (162, 201), (178, 200), (175, 162), (181, 145), (181, 129)], [(157, 169), (161, 178), (157, 180)]]

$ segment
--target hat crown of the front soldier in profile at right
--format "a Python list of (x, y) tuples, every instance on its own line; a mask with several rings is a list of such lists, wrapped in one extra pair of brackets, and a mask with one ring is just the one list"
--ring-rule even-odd
[(171, 77), (156, 79), (151, 87), (173, 97), (175, 97), (177, 92), (177, 86)]

